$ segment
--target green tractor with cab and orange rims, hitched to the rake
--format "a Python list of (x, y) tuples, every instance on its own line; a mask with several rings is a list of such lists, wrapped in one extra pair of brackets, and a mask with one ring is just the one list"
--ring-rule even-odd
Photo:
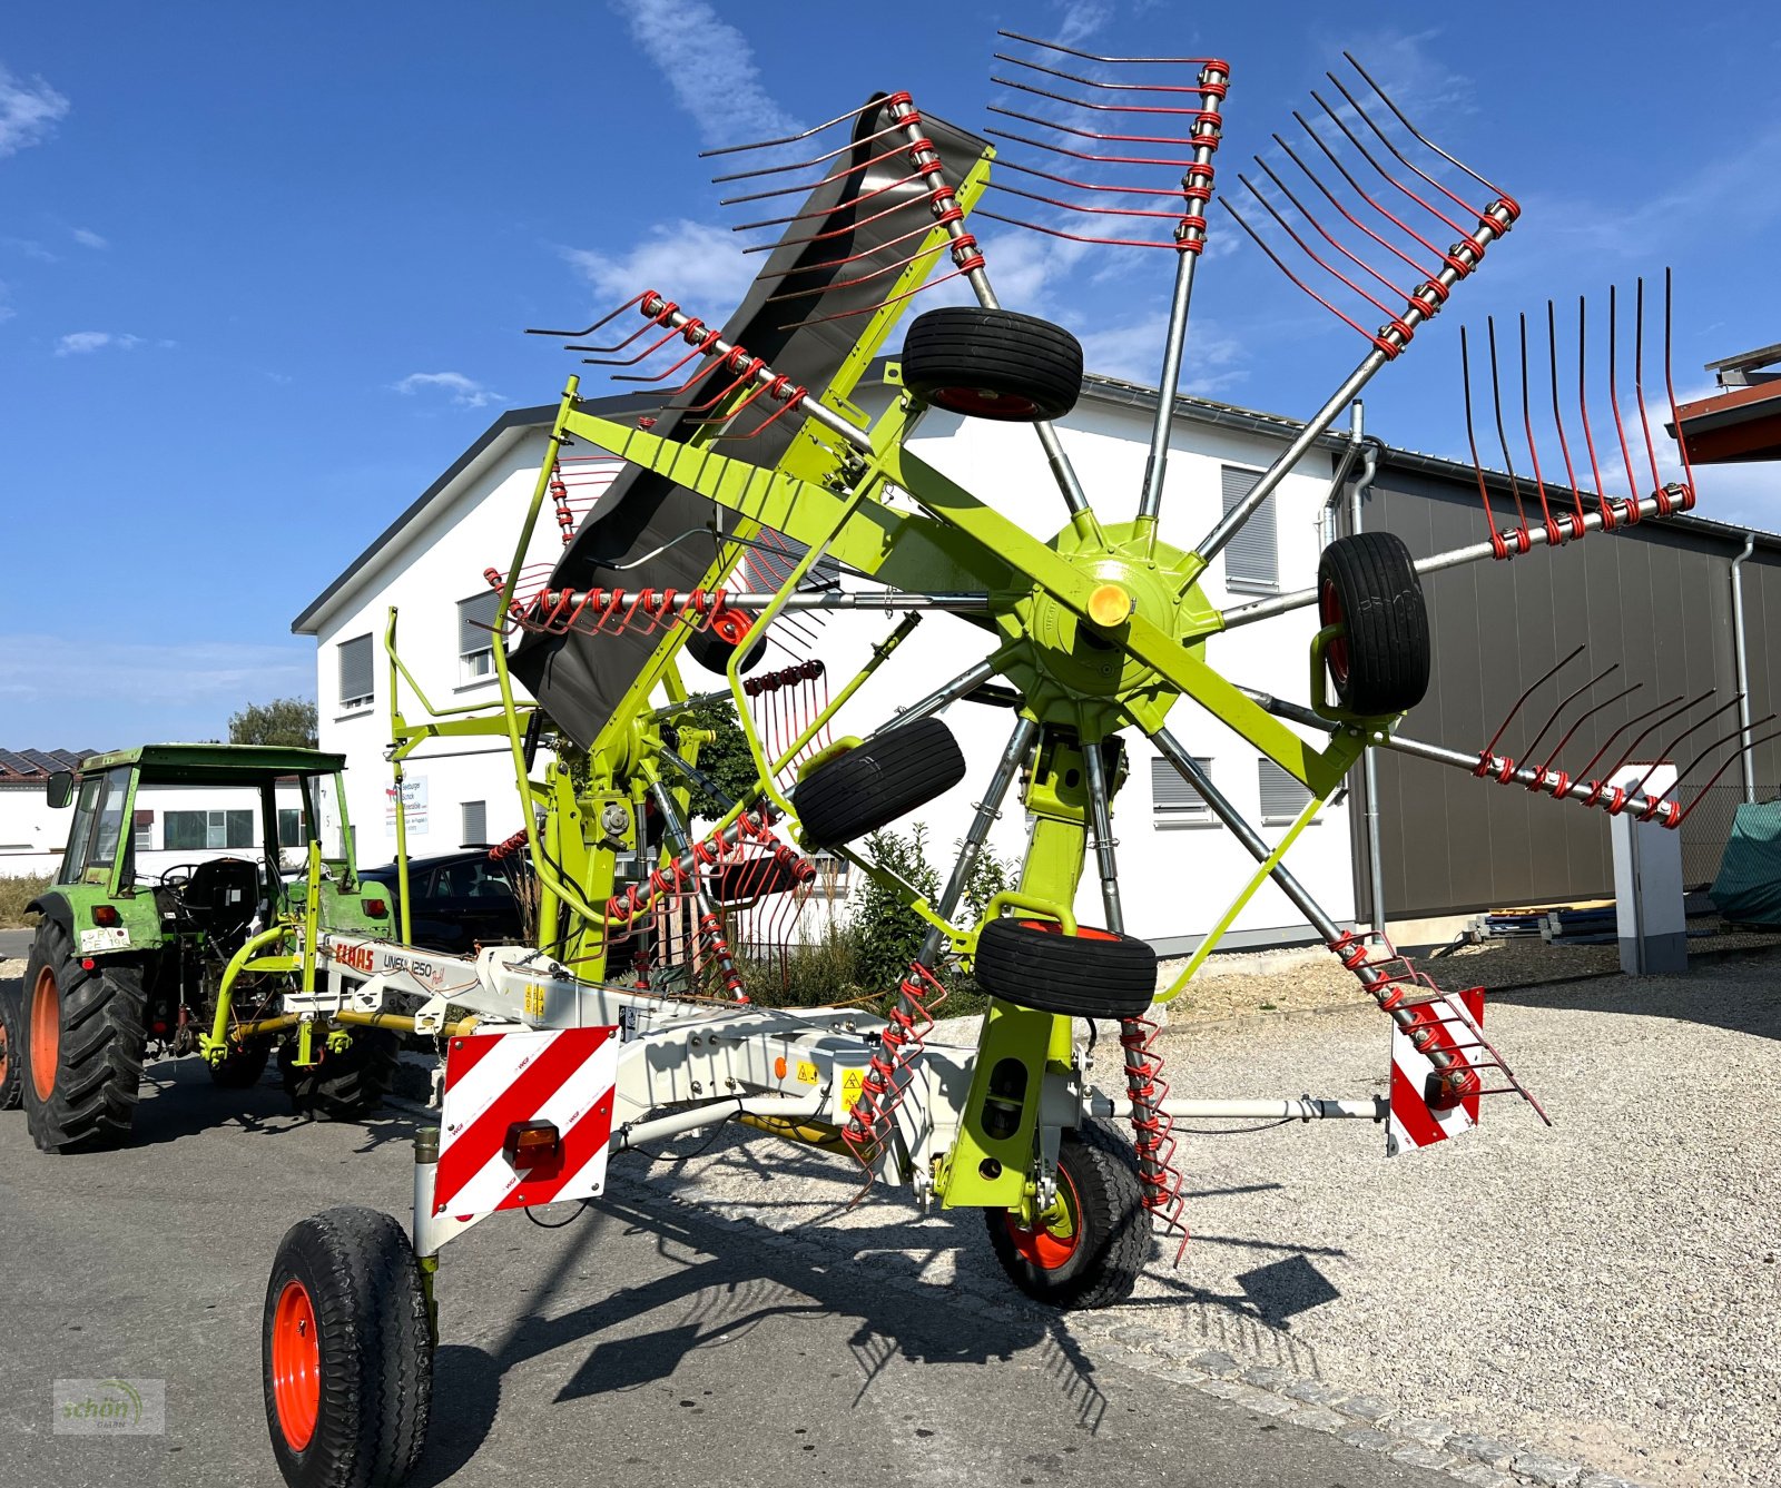
[[(317, 1020), (283, 1006), (313, 991), (319, 931), (390, 933), (388, 890), (360, 883), (353, 865), (344, 764), (319, 749), (144, 744), (50, 778), (50, 805), (75, 812), (62, 869), (30, 904), (41, 918), (9, 1043), (39, 1148), (125, 1141), (151, 1052), (201, 1054), (217, 1086), (244, 1089), (283, 1045), (299, 1111), (351, 1118), (378, 1104), (395, 1036), (329, 1018), (315, 1038)], [(244, 810), (178, 813), (180, 833), (169, 813), (169, 840), (151, 854), (139, 840), (142, 787)], [(255, 837), (258, 856), (214, 854)], [(198, 856), (148, 863), (182, 849)]]

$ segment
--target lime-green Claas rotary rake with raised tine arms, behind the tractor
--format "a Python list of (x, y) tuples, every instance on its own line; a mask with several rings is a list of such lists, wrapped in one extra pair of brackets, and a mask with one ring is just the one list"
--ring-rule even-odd
[[(1396, 538), (1362, 532), (1334, 541), (1316, 584), (1298, 593), (1220, 612), (1199, 584), (1368, 379), (1409, 351), (1496, 251), (1519, 217), (1514, 199), (1434, 146), (1359, 64), (1346, 80), (1330, 77), (1341, 112), (1325, 105), (1320, 123), (1300, 119), (1305, 137), (1288, 151), (1298, 196), (1279, 178), (1268, 194), (1243, 182), (1248, 205), (1232, 215), (1359, 331), (1366, 354), (1245, 498), (1195, 546), (1172, 546), (1158, 534), (1170, 395), (1231, 69), (1216, 59), (1010, 43), (988, 130), (1012, 142), (1008, 153), (923, 114), (907, 93), (874, 94), (793, 139), (721, 151), (734, 157), (721, 176), (737, 183), (732, 201), (762, 217), (750, 226), (782, 230), (760, 246), (766, 263), (743, 306), (718, 329), (671, 287), (639, 288), (568, 333), (600, 335), (604, 344), (575, 349), (602, 365), (661, 360), (654, 376), (623, 376), (673, 390), (648, 416), (613, 422), (586, 409), (570, 381), (515, 557), (488, 575), (499, 591), (499, 714), (431, 708), (399, 659), (390, 618), (392, 689), (406, 682), (429, 714), (419, 723), (397, 714), (397, 774), (422, 739), (493, 733), (511, 748), (529, 826), (509, 851), (524, 847), (536, 870), (536, 945), (431, 956), (422, 966), (404, 943), (322, 934), (315, 945), (326, 988), (294, 1011), (408, 1009), (419, 1029), (438, 1031), (451, 1006), (481, 1022), (445, 1039), (440, 1128), (417, 1143), (411, 1230), (337, 1209), (297, 1225), (280, 1248), (264, 1314), (265, 1401), (290, 1483), (401, 1481), (426, 1433), (440, 1249), (497, 1210), (600, 1193), (609, 1153), (650, 1139), (737, 1121), (851, 1153), (867, 1178), (905, 1184), (923, 1205), (981, 1209), (997, 1258), (1029, 1296), (1101, 1306), (1131, 1290), (1152, 1225), (1184, 1233), (1172, 1134), (1183, 1118), (1366, 1116), (1389, 1123), (1387, 1150), (1403, 1150), (1464, 1132), (1494, 1091), (1532, 1100), (1485, 1039), (1478, 993), (1443, 993), (1387, 945), (1343, 931), (1282, 863), (1370, 748), (1647, 821), (1681, 815), (1674, 799), (1573, 778), (1553, 762), (1517, 765), (1496, 740), (1459, 751), (1400, 732), (1430, 667), (1418, 575), (1687, 511), (1690, 484), (1658, 482), (1655, 454), (1651, 486), (1624, 497), (1598, 477), (1589, 502), (1576, 479), (1560, 498), (1535, 477), (1526, 502), (1516, 489), (1519, 522), (1503, 525), (1485, 505), (1485, 538), (1455, 554), (1412, 561)], [(1015, 126), (1001, 126), (1008, 119)], [(1163, 397), (1129, 522), (1097, 518), (1092, 472), (1074, 468), (1053, 427), (1079, 392), (1076, 338), (996, 299), (971, 230), (974, 217), (996, 215), (983, 205), (992, 187), (1042, 214), (1021, 226), (1174, 255)], [(1300, 199), (1327, 201), (1341, 222), (1320, 224)], [(898, 317), (937, 283), (967, 288), (976, 304), (912, 320), (885, 370), (899, 392), (867, 418), (851, 393)], [(1343, 303), (1370, 303), (1355, 313), (1382, 324), (1366, 329)], [(1640, 320), (1642, 310), (1640, 295)], [(1667, 324), (1665, 292), (1665, 340)], [(1640, 328), (1640, 406), (1642, 358)], [(1557, 406), (1557, 352), (1553, 367)], [(1031, 425), (1063, 498), (1053, 538), (1028, 534), (910, 449), (930, 408)], [(590, 472), (618, 461), (590, 502)], [(1639, 468), (1628, 459), (1630, 481)], [(1345, 466), (1336, 481), (1346, 475)], [(547, 509), (563, 548), (529, 566)], [(1322, 625), (1305, 662), (1307, 703), (1215, 669), (1208, 643), (1222, 630), (1311, 605)], [(821, 662), (757, 667), (787, 628), (848, 609), (889, 612), (890, 628), (834, 692)], [(842, 733), (837, 721), (858, 687), (882, 669), (892, 676), (898, 646), (935, 611), (972, 627), (983, 660), (873, 732)], [(721, 671), (727, 687), (691, 696), (686, 655)], [(515, 678), (534, 701), (516, 700)], [(1309, 792), (1272, 844), (1170, 732), (1183, 700)], [(1006, 746), (980, 762), (983, 794), (958, 860), (944, 890), (926, 897), (855, 844), (965, 776), (939, 717), (953, 703), (1012, 708), (1013, 724)], [(712, 829), (695, 833), (691, 794), (721, 796), (698, 764), (711, 739), (700, 719), (712, 707), (734, 707), (755, 778)], [(1272, 879), (1387, 1015), (1389, 1100), (1168, 1096), (1143, 1016), (1156, 956), (1124, 933), (1110, 831), (1129, 730), (1154, 742), (1257, 860), (1163, 997)], [(1019, 883), (962, 918), (972, 865), (1015, 781), (1029, 822)], [(901, 984), (883, 990), (883, 1016), (746, 999), (739, 926), (807, 894), (809, 854), (819, 851), (846, 858), (928, 924)], [(1090, 865), (1099, 927), (1074, 913)], [(992, 999), (974, 1047), (935, 1038), (953, 965)], [(1094, 1082), (1072, 1018), (1117, 1023), (1115, 1089)]]

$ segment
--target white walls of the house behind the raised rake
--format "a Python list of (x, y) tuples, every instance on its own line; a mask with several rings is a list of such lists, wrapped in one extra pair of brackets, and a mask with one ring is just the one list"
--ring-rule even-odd
[[(882, 386), (866, 386), (858, 402), (883, 404)], [(1063, 443), (1102, 522), (1127, 520), (1138, 500), (1156, 393), (1108, 377), (1086, 377), (1074, 413), (1060, 425)], [(623, 400), (611, 400), (625, 409)], [(484, 570), (506, 570), (520, 520), (538, 477), (554, 406), (515, 409), (465, 450), (363, 554), (297, 616), (292, 630), (317, 641), (321, 748), (349, 760), (349, 801), (360, 861), (388, 858), (395, 849), (395, 812), (385, 751), (390, 742), (388, 667), (383, 634), (392, 605), (399, 609), (399, 651), (435, 707), (495, 705), (486, 628), (493, 614)], [(1177, 400), (1161, 536), (1188, 546), (1218, 518), (1225, 493), (1241, 493), (1297, 433), (1270, 415), (1195, 399)], [(1216, 559), (1202, 586), (1215, 605), (1240, 603), (1279, 587), (1314, 580), (1320, 516), (1338, 459), (1330, 438), (1305, 456), (1263, 513)], [(1031, 429), (988, 424), (931, 411), (915, 447), (969, 489), (1049, 536), (1065, 511)], [(577, 454), (586, 454), (577, 450)], [(590, 468), (591, 470), (591, 468)], [(595, 479), (597, 472), (584, 475)], [(550, 564), (561, 550), (556, 523), (540, 522), (529, 562)], [(647, 582), (647, 580), (645, 580)], [(896, 618), (873, 612), (830, 614), (814, 639), (793, 641), (793, 653), (821, 659), (839, 689), (864, 662)], [(1209, 643), (1213, 662), (1227, 676), (1302, 700), (1307, 689), (1307, 648), (1314, 611), (1245, 627)], [(962, 619), (933, 614), (896, 657), (848, 703), (837, 733), (869, 733), (894, 710), (939, 682), (958, 675), (990, 650), (983, 632)], [(784, 659), (762, 662), (784, 666)], [(691, 673), (698, 667), (686, 664)], [(689, 685), (698, 685), (696, 682)], [(410, 721), (420, 716), (413, 696), (403, 698)], [(1012, 726), (1001, 708), (955, 705), (947, 723), (969, 762), (965, 781), (921, 812), (931, 856), (942, 872), (951, 844), (964, 833), (972, 803)], [(1170, 717), (1175, 737), (1209, 762), (1213, 778), (1266, 837), (1284, 831), (1304, 803), (1302, 787), (1191, 703)], [(1236, 886), (1254, 870), (1248, 854), (1184, 790), (1179, 776), (1149, 742), (1127, 732), (1131, 776), (1120, 790), (1113, 824), (1118, 838), (1126, 924), (1165, 954), (1190, 949), (1218, 920)], [(499, 842), (522, 826), (511, 756), (500, 740), (436, 740), (411, 756), (410, 851), (440, 853), (463, 842)], [(1003, 813), (992, 851), (1019, 858), (1024, 822), (1019, 810)], [(1346, 808), (1330, 805), (1293, 849), (1295, 874), (1338, 920), (1352, 920), (1355, 886)], [(1099, 886), (1085, 874), (1078, 910), (1099, 924)], [(1272, 885), (1236, 920), (1231, 945), (1309, 938), (1297, 911)]]

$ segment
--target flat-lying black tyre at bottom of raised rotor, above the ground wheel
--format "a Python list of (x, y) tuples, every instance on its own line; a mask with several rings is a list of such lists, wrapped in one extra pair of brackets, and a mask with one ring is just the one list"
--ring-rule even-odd
[(1070, 1018), (1136, 1018), (1156, 997), (1156, 952), (1142, 940), (1049, 920), (992, 920), (972, 975), (990, 997)]

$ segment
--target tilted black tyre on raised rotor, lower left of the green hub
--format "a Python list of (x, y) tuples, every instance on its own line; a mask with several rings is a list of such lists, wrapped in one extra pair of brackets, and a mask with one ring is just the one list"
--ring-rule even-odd
[(791, 803), (812, 847), (878, 831), (965, 778), (958, 740), (937, 717), (862, 740), (798, 781)]

